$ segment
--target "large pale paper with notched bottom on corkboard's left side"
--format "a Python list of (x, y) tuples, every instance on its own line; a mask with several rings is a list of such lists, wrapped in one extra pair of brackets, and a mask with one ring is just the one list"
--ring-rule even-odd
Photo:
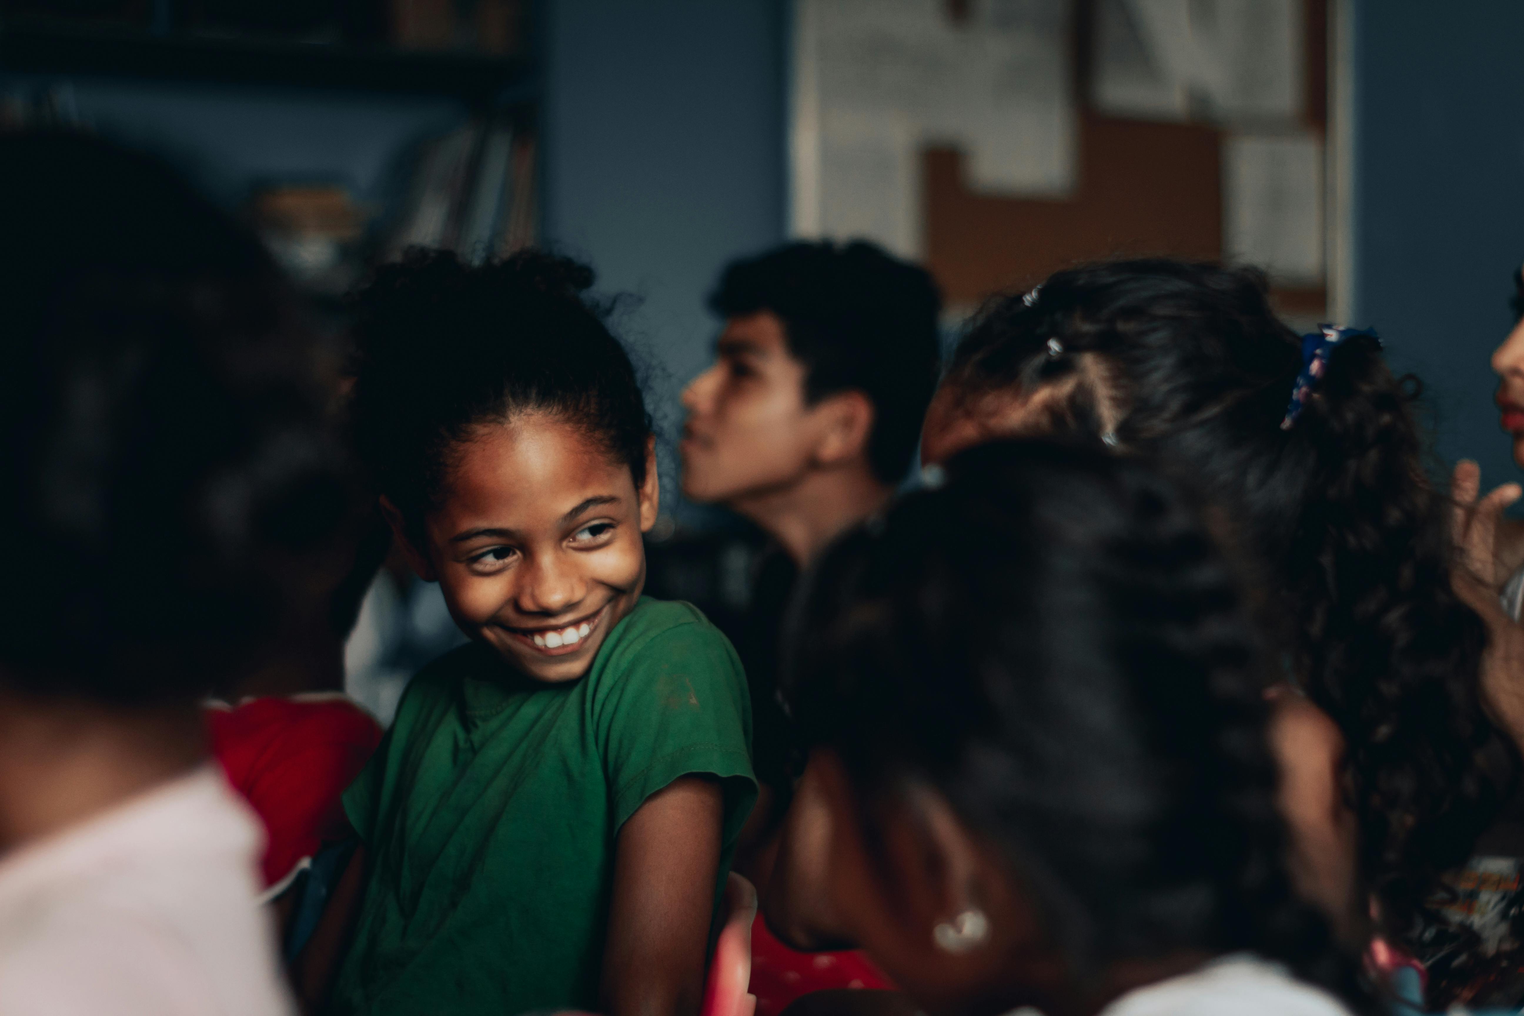
[(922, 253), (920, 151), (972, 189), (1074, 187), (1071, 0), (797, 0), (791, 227)]

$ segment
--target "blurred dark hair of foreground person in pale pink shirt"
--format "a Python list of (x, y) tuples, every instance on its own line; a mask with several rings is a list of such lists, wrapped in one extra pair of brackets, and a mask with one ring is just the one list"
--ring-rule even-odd
[(107, 142), (0, 134), (0, 681), (204, 693), (341, 567), (311, 334), (251, 233)]

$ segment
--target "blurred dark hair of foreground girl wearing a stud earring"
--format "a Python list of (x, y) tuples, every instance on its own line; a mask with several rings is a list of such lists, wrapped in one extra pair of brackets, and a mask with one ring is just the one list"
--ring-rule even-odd
[(948, 474), (829, 550), (796, 612), (800, 720), (869, 830), (930, 783), (1006, 850), (1079, 979), (1248, 949), (1361, 1005), (1291, 890), (1266, 682), (1199, 513), (1067, 443)]

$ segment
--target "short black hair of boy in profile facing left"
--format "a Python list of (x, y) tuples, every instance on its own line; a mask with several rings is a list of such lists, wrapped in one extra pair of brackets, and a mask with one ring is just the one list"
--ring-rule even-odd
[(942, 296), (920, 267), (873, 244), (788, 244), (725, 267), (719, 317), (770, 311), (805, 366), (805, 398), (861, 391), (873, 404), (869, 465), (899, 483), (937, 384)]

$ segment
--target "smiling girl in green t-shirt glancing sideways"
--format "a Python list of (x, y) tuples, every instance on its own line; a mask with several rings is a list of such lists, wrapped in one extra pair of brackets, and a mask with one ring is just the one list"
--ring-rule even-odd
[(654, 439), (591, 280), (416, 253), (358, 299), (357, 442), (471, 643), (344, 795), (364, 847), (314, 941), (352, 923), (329, 1011), (698, 1008), (751, 717), (724, 635), (640, 596)]

